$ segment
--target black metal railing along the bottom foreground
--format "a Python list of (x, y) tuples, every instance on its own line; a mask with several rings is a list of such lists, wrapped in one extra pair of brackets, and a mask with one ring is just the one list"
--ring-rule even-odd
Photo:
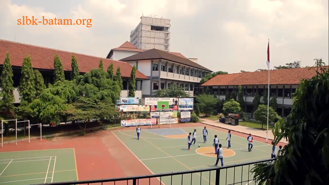
[[(190, 170), (172, 173), (162, 173), (154, 175), (143, 175), (135, 177), (122, 177), (111, 179), (98, 180), (83, 180), (70, 182), (54, 182), (45, 183), (44, 185), (71, 185), (71, 184), (162, 184), (162, 185), (178, 185), (178, 184), (212, 184), (212, 185), (233, 185), (233, 184), (256, 184), (253, 181), (250, 170), (254, 164), (271, 162), (276, 159), (266, 159), (253, 162), (239, 163), (233, 165), (226, 165), (224, 167), (215, 167), (201, 170)], [(252, 165), (252, 167), (251, 167)], [(133, 167), (132, 167), (133, 168)], [(240, 172), (241, 169), (241, 172)], [(233, 172), (233, 173), (231, 173)]]

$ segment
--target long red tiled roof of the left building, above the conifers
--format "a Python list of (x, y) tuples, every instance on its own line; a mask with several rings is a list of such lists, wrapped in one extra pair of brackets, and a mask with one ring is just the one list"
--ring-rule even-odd
[[(10, 55), (10, 63), (12, 66), (21, 67), (23, 65), (23, 59), (29, 55), (32, 59), (33, 68), (51, 70), (54, 69), (53, 60), (57, 54), (62, 61), (64, 71), (70, 71), (72, 54), (75, 54), (80, 72), (88, 72), (90, 69), (97, 69), (101, 59), (103, 60), (104, 70), (106, 70), (111, 63), (113, 63), (114, 72), (116, 72), (118, 66), (120, 66), (121, 77), (130, 78), (132, 70), (132, 66), (126, 62), (5, 40), (0, 40), (0, 65), (4, 63), (7, 52)], [(136, 70), (136, 78), (149, 79), (138, 70)]]

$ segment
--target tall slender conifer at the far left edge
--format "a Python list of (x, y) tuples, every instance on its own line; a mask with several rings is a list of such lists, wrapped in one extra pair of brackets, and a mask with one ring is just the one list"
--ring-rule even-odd
[(1, 91), (0, 91), (0, 96), (2, 97), (2, 100), (6, 102), (6, 106), (9, 108), (14, 107), (14, 87), (13, 83), (14, 81), (12, 80), (13, 73), (12, 73), (12, 68), (10, 65), (10, 58), (9, 58), (9, 53), (6, 55), (6, 59), (4, 61), (4, 66), (3, 70), (1, 73)]

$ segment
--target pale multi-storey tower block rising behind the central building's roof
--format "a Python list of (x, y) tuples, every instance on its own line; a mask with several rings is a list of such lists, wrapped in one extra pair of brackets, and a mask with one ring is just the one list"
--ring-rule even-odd
[(141, 16), (130, 33), (130, 42), (141, 50), (170, 51), (170, 19)]

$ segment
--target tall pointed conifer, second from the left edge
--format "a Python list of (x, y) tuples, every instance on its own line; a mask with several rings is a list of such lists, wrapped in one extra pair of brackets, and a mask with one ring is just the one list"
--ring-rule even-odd
[(18, 91), (21, 102), (31, 103), (35, 97), (35, 75), (30, 57), (24, 58), (22, 77)]

